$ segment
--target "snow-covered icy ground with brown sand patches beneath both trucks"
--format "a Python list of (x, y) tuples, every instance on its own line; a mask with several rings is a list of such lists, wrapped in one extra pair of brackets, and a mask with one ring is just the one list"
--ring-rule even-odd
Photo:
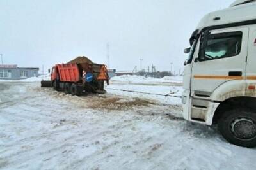
[(0, 169), (256, 169), (255, 148), (173, 119), (181, 111), (172, 97), (115, 90), (76, 97), (41, 89), (39, 82), (0, 82)]

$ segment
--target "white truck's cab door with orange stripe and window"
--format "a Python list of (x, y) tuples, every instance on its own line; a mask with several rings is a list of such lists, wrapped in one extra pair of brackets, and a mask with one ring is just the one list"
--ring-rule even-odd
[(199, 39), (193, 60), (191, 95), (210, 96), (221, 84), (244, 80), (245, 76), (248, 28), (216, 29), (204, 34), (207, 36)]

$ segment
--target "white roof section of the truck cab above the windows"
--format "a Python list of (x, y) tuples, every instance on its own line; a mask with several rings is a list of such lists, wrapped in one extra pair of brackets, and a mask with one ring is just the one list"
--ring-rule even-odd
[[(240, 1), (241, 2), (241, 1)], [(237, 2), (238, 3), (238, 2)], [(231, 24), (256, 19), (256, 1), (237, 6), (231, 6), (223, 10), (209, 13), (200, 20), (197, 29), (211, 27), (214, 25)], [(214, 18), (220, 17), (219, 20)]]

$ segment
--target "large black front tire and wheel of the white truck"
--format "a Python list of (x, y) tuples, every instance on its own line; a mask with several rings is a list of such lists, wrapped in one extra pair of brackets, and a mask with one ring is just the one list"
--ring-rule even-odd
[(256, 113), (248, 108), (225, 111), (218, 121), (218, 129), (230, 143), (253, 148), (256, 146)]

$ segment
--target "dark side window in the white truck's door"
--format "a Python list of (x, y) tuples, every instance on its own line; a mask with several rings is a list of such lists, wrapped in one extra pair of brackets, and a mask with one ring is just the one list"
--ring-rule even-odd
[(200, 56), (202, 61), (233, 57), (241, 52), (242, 32), (226, 32), (221, 34), (210, 34), (204, 48), (204, 55)]

